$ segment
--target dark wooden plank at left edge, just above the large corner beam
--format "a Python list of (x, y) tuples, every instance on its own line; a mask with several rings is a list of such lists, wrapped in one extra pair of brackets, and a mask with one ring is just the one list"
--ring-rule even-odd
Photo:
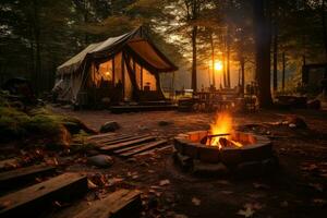
[(36, 175), (55, 172), (56, 167), (47, 165), (36, 165), (25, 168), (19, 168), (0, 173), (0, 190), (8, 190), (12, 186), (26, 184), (35, 180)]

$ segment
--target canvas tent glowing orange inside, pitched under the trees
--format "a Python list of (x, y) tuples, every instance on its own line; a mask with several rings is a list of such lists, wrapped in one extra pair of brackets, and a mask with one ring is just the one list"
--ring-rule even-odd
[(53, 89), (59, 100), (74, 104), (162, 100), (159, 74), (175, 70), (140, 27), (90, 44), (61, 64)]

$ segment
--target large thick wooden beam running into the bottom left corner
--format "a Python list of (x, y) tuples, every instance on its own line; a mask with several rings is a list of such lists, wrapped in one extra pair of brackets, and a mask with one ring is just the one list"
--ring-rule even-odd
[(53, 201), (72, 199), (87, 191), (87, 178), (68, 172), (0, 197), (0, 217), (33, 217)]

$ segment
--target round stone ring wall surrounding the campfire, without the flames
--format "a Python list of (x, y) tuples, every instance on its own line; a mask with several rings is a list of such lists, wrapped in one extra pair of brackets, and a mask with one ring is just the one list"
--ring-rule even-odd
[(174, 138), (175, 157), (183, 159), (183, 168), (189, 165), (189, 169), (196, 173), (213, 171), (215, 174), (226, 174), (239, 171), (243, 174), (264, 172), (277, 166), (272, 144), (264, 136), (235, 132), (232, 140), (242, 143), (242, 146), (222, 148), (203, 144), (203, 138), (207, 136), (208, 131), (196, 131)]

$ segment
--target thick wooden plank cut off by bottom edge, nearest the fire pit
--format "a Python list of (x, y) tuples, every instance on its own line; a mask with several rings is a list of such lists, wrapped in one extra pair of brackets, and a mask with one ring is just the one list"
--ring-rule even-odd
[(141, 192), (119, 190), (104, 199), (95, 202), (89, 208), (73, 218), (124, 218), (138, 217), (142, 208)]

